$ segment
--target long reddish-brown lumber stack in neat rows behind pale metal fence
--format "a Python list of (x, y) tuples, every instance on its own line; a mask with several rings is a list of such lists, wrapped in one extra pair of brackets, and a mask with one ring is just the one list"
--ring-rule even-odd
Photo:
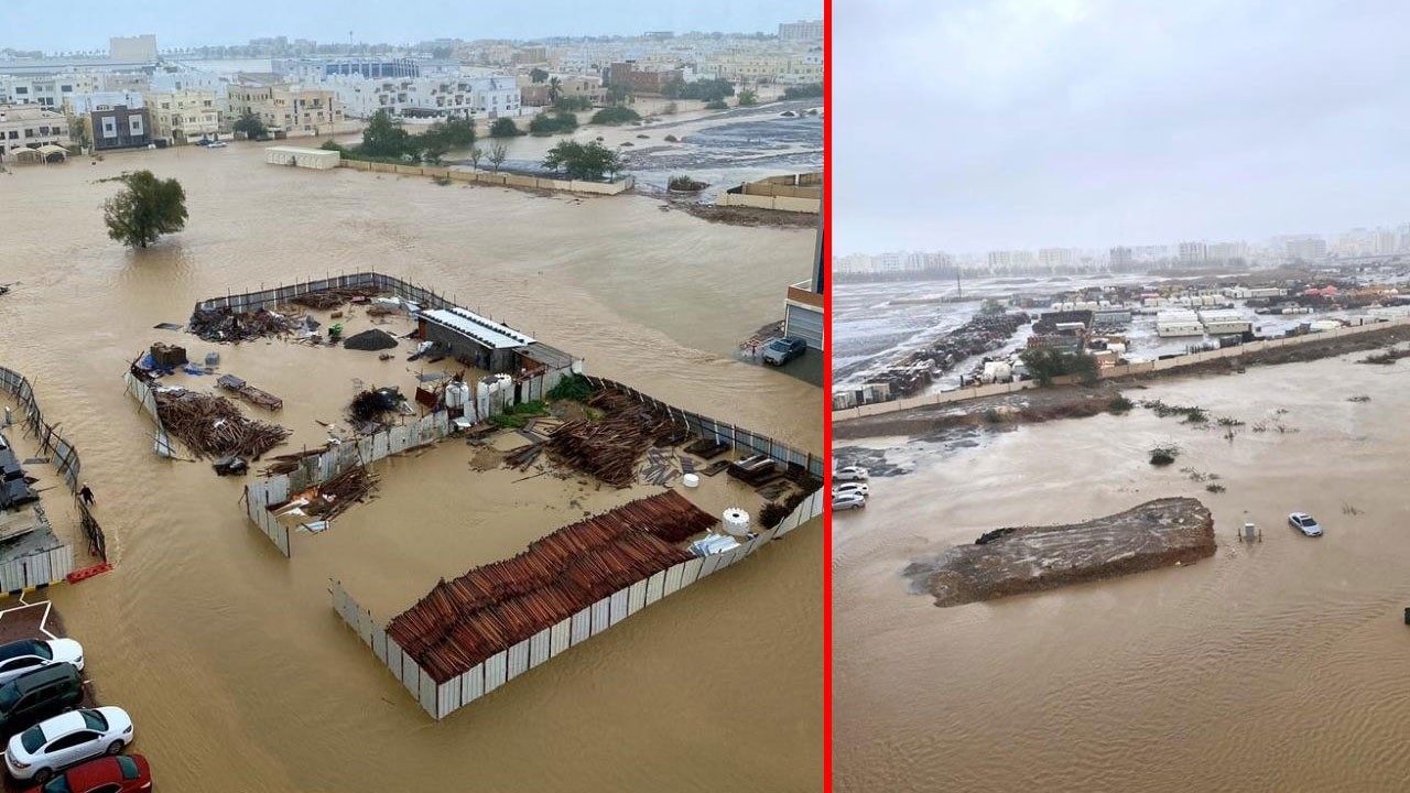
[(437, 683), (691, 559), (715, 518), (670, 491), (564, 526), (512, 559), (440, 581), (386, 626)]

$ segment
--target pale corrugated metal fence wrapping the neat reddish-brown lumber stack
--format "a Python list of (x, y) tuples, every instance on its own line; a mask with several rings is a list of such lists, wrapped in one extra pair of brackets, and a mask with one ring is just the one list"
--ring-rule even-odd
[(378, 660), (386, 665), (392, 676), (402, 682), (402, 686), (416, 697), (427, 714), (433, 718), (446, 718), (453, 711), (471, 704), (534, 666), (565, 652), (568, 648), (581, 645), (637, 611), (735, 564), (768, 542), (818, 518), (822, 515), (825, 504), (825, 494), (821, 490), (815, 491), (797, 509), (790, 512), (783, 522), (773, 529), (761, 532), (740, 547), (726, 553), (691, 559), (663, 570), (650, 579), (636, 581), (563, 622), (546, 628), (508, 650), (485, 659), (484, 663), (470, 672), (440, 684), (415, 659), (402, 652), (402, 648), (386, 635), (386, 628), (378, 624), (371, 611), (358, 605), (352, 595), (343, 588), (341, 581), (331, 583), (333, 608), (352, 628), (358, 638), (372, 648), (372, 653), (376, 655)]

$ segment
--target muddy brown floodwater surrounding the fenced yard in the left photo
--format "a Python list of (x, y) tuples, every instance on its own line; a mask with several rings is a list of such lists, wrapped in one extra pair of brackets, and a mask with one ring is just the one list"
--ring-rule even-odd
[[(138, 253), (107, 240), (100, 205), (116, 185), (94, 183), (135, 168), (180, 179), (190, 209), (185, 233)], [(0, 203), (27, 219), (0, 227), (0, 282), (20, 281), (0, 298), (0, 361), (37, 382), (80, 450), (116, 563), (52, 597), (162, 787), (819, 787), (821, 526), (437, 724), (333, 612), (336, 570), (299, 549), (281, 557), (244, 522), (238, 481), (158, 461), (120, 381), (141, 347), (173, 339), (152, 326), (185, 322), (200, 298), (375, 267), (584, 356), (594, 374), (821, 450), (816, 388), (728, 358), (808, 277), (811, 231), (713, 226), (636, 196), (295, 171), (247, 145), (0, 174)], [(279, 365), (245, 377), (286, 404), (350, 392), (302, 375), (295, 349), (266, 350)], [(292, 444), (319, 440), (300, 423)], [(436, 498), (430, 483), (389, 478), (365, 516)]]

